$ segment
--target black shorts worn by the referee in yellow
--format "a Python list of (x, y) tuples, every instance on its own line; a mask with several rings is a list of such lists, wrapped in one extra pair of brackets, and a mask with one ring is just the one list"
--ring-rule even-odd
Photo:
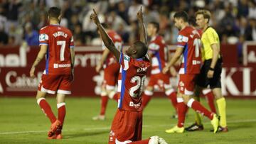
[(201, 67), (200, 74), (198, 74), (198, 77), (196, 79), (196, 84), (199, 87), (206, 88), (210, 84), (210, 89), (214, 88), (221, 88), (221, 82), (220, 82), (220, 74), (222, 70), (222, 60), (218, 59), (213, 73), (213, 78), (208, 78), (207, 73), (210, 68), (210, 60), (205, 60), (203, 62), (203, 67)]

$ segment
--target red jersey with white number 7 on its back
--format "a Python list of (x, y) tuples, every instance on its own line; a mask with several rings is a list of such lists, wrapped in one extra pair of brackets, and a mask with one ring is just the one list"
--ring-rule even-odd
[(49, 25), (41, 28), (39, 33), (39, 45), (48, 45), (43, 74), (71, 74), (70, 48), (74, 48), (71, 31), (59, 25)]

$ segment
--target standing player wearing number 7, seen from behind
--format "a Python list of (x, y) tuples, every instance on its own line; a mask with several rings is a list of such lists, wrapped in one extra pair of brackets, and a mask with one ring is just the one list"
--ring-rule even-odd
[[(35, 77), (36, 66), (46, 57), (46, 69), (43, 71), (41, 82), (36, 95), (37, 103), (43, 113), (50, 119), (51, 126), (48, 139), (61, 139), (61, 130), (65, 119), (65, 95), (71, 94), (71, 82), (74, 74), (74, 40), (68, 28), (59, 25), (61, 11), (57, 7), (48, 10), (49, 25), (41, 28), (39, 42), (41, 50), (38, 52), (30, 71)], [(50, 105), (46, 101), (46, 94), (57, 93), (58, 118), (55, 117)]]

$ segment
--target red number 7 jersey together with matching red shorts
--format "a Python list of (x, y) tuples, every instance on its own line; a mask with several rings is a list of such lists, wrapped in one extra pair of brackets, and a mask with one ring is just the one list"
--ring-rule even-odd
[(47, 45), (46, 69), (43, 72), (38, 90), (55, 94), (70, 94), (71, 91), (71, 56), (74, 48), (73, 35), (68, 28), (49, 25), (41, 28), (39, 45)]

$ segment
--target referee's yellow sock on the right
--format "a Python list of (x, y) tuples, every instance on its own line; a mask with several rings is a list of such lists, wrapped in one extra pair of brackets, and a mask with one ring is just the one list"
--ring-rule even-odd
[(226, 120), (226, 102), (225, 98), (220, 98), (217, 101), (218, 105), (218, 111), (220, 113), (220, 126), (225, 128), (227, 126), (227, 120)]

